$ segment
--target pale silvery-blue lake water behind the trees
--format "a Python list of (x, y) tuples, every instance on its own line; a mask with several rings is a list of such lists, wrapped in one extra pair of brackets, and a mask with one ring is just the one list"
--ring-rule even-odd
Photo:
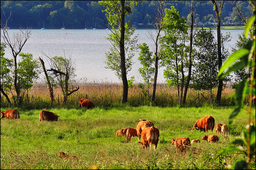
[[(138, 43), (146, 43), (150, 50), (154, 51), (154, 42), (148, 38), (148, 32), (152, 31), (156, 35), (155, 30), (140, 30), (136, 29), (134, 35), (138, 34)], [(10, 36), (12, 34), (19, 32), (18, 29), (10, 29), (8, 33)], [(214, 30), (215, 37), (217, 40), (217, 30)], [(233, 30), (233, 29), (222, 29), (221, 32), (225, 35), (226, 32), (231, 33), (231, 41), (226, 45), (231, 52), (231, 47), (235, 47), (235, 43), (238, 40), (238, 34), (241, 34), (243, 30)], [(49, 66), (45, 56), (63, 56), (64, 51), (65, 56), (71, 56), (76, 64), (76, 80), (83, 83), (84, 80), (87, 82), (116, 82), (121, 83), (121, 81), (116, 77), (115, 73), (110, 69), (105, 69), (106, 64), (105, 53), (109, 50), (111, 43), (106, 40), (110, 30), (75, 30), (75, 29), (65, 29), (65, 30), (52, 30), (52, 29), (33, 29), (31, 31), (31, 36), (22, 48), (23, 53), (32, 53), (34, 59), (38, 59), (40, 56), (46, 67)], [(2, 30), (1, 30), (2, 34)], [(1, 42), (2, 39), (1, 39)], [(7, 46), (5, 48), (5, 57), (12, 59), (10, 54), (10, 48)], [(138, 72), (141, 66), (138, 60), (139, 51), (135, 52), (133, 61), (135, 64), (132, 66), (132, 70), (128, 72), (127, 79), (131, 76), (135, 76), (135, 82), (143, 82), (143, 79)], [(18, 58), (20, 59), (20, 58)], [(163, 69), (158, 69), (158, 83), (164, 83)], [(42, 76), (40, 76), (42, 78)], [(41, 82), (41, 80), (40, 80)]]

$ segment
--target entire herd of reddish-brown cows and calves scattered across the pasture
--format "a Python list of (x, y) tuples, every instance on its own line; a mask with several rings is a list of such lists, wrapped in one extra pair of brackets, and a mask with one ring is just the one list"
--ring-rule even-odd
[[(79, 103), (79, 107), (87, 107), (88, 109), (94, 108), (94, 104), (88, 100), (82, 98)], [(19, 112), (17, 109), (9, 109), (6, 111), (1, 112), (1, 118), (5, 117), (6, 119), (19, 119)], [(56, 115), (50, 111), (42, 110), (39, 113), (39, 120), (42, 121), (58, 121), (59, 115)], [(208, 132), (209, 130), (213, 131), (215, 126), (215, 119), (212, 116), (206, 116), (201, 119), (198, 119), (196, 123), (194, 124), (192, 130), (198, 129), (204, 132)], [(215, 128), (216, 133), (221, 133), (222, 135), (227, 135), (228, 127), (226, 124), (216, 124)], [(191, 130), (191, 131), (192, 131)], [(123, 128), (116, 131), (116, 137), (118, 136), (126, 136), (126, 142), (131, 141), (131, 137), (137, 137), (138, 143), (142, 145), (142, 148), (150, 147), (152, 148), (152, 145), (154, 145), (154, 149), (157, 148), (157, 143), (159, 139), (159, 130), (157, 127), (154, 126), (153, 122), (147, 121), (145, 119), (140, 119), (140, 121), (137, 124), (136, 129), (134, 128)], [(142, 142), (140, 142), (140, 139), (142, 139)], [(202, 137), (202, 140), (206, 140), (208, 142), (216, 143), (219, 141), (219, 137), (217, 135), (204, 135)], [(191, 147), (191, 143), (199, 142), (199, 139), (193, 139), (190, 142), (190, 139), (188, 137), (185, 138), (172, 138), (172, 145), (176, 147), (177, 150), (180, 151), (186, 151), (187, 148), (192, 149), (200, 149), (196, 147)], [(60, 152), (58, 157), (69, 157), (73, 155), (67, 155), (64, 152)]]

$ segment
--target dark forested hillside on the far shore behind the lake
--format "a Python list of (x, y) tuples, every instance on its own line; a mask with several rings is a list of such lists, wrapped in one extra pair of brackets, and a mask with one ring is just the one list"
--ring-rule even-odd
[[(194, 1), (194, 4), (195, 19), (198, 17), (201, 22), (212, 22), (216, 18), (211, 1)], [(187, 18), (190, 5), (191, 1), (166, 1), (165, 7), (175, 6), (180, 16)], [(247, 1), (239, 5), (244, 14), (252, 16)], [(227, 1), (221, 14), (224, 22), (233, 8), (234, 6)], [(5, 16), (9, 17), (11, 12), (8, 21), (10, 28), (26, 28), (30, 25), (33, 29), (39, 29), (44, 25), (46, 29), (60, 29), (64, 24), (66, 29), (95, 28), (95, 25), (97, 29), (103, 29), (103, 19), (106, 25), (108, 22), (102, 12), (103, 9), (98, 1), (1, 1), (1, 21), (6, 21)], [(131, 19), (132, 24), (154, 23), (155, 13), (156, 8), (151, 1), (142, 1), (132, 8), (131, 15), (125, 19), (126, 22)]]

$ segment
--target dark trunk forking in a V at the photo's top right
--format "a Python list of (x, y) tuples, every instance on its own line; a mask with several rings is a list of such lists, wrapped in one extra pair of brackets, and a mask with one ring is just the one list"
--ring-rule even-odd
[[(224, 1), (222, 2), (222, 4), (220, 4), (220, 11), (218, 10), (217, 7), (217, 3), (216, 1), (212, 1), (214, 8), (215, 8), (215, 13), (217, 16), (217, 43), (218, 43), (218, 64), (219, 64), (219, 70), (222, 66), (222, 58), (221, 58), (221, 37), (220, 37), (220, 17), (221, 17), (221, 11), (223, 8), (223, 4)], [(217, 95), (216, 95), (216, 104), (219, 105), (220, 104), (220, 100), (221, 100), (221, 93), (222, 93), (222, 89), (223, 89), (223, 79), (219, 78), (219, 85), (218, 85), (218, 91), (217, 91)]]

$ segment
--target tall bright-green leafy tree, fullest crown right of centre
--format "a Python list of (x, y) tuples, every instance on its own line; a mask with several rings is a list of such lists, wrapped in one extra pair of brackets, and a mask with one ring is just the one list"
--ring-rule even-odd
[[(169, 82), (176, 82), (177, 95), (183, 95), (184, 85), (184, 70), (183, 70), (183, 58), (185, 42), (187, 41), (188, 25), (184, 17), (179, 16), (178, 10), (172, 6), (171, 9), (165, 9), (165, 17), (163, 20), (164, 36), (161, 38), (161, 64), (165, 66), (164, 75), (166, 79), (171, 80)], [(176, 78), (173, 79), (173, 74)], [(180, 75), (182, 77), (180, 77)], [(182, 85), (179, 85), (180, 79)], [(179, 88), (181, 88), (181, 94), (179, 94)]]

